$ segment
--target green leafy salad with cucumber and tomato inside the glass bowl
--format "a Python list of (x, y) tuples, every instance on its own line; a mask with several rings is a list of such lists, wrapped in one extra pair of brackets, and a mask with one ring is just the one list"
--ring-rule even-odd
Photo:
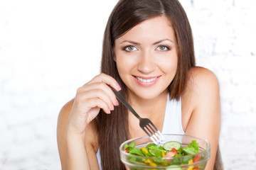
[[(125, 152), (139, 157), (129, 157), (129, 162), (144, 166), (166, 166), (166, 169), (182, 170), (181, 165), (191, 164), (187, 170), (201, 170), (205, 165), (195, 165), (202, 158), (199, 153), (198, 142), (192, 140), (187, 146), (181, 146), (180, 142), (169, 141), (164, 145), (150, 143), (146, 147), (137, 148), (135, 142), (124, 145)], [(182, 157), (186, 156), (187, 157)], [(170, 158), (170, 159), (154, 159)], [(173, 166), (173, 168), (171, 168)], [(175, 167), (176, 166), (176, 167)], [(174, 168), (175, 167), (175, 168)], [(154, 168), (154, 167), (152, 167)]]

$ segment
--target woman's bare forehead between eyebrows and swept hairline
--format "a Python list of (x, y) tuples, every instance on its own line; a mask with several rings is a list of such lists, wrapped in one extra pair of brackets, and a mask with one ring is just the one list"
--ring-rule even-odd
[(127, 33), (117, 38), (116, 42), (118, 43), (129, 39), (135, 41), (146, 39), (151, 42), (165, 38), (169, 38), (175, 42), (174, 29), (166, 16), (156, 16), (134, 26), (134, 28), (127, 31)]

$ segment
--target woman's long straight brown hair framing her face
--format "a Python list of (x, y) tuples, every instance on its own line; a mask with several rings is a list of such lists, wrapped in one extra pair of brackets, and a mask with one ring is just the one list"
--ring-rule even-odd
[[(191, 26), (178, 0), (120, 0), (110, 14), (105, 28), (101, 72), (117, 80), (125, 97), (127, 86), (119, 77), (113, 60), (114, 40), (138, 23), (155, 16), (169, 18), (176, 35), (178, 68), (168, 87), (171, 98), (180, 98), (186, 87), (188, 70), (195, 66)], [(129, 135), (127, 109), (120, 104), (110, 115), (100, 111), (97, 115), (97, 125), (102, 169), (125, 169), (120, 161), (119, 145), (127, 140)]]

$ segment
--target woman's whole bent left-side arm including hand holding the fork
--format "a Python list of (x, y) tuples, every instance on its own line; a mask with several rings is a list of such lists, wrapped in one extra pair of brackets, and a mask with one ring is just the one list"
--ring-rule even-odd
[(110, 86), (119, 91), (117, 81), (99, 74), (78, 88), (75, 99), (66, 104), (58, 118), (58, 148), (63, 169), (99, 169), (97, 165), (97, 125), (100, 109), (110, 114), (118, 105)]

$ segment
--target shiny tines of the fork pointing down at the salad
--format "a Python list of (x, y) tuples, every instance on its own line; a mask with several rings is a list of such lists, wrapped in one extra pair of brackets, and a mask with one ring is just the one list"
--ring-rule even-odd
[[(153, 126), (153, 127), (152, 127)], [(164, 136), (161, 132), (156, 128), (153, 123), (149, 123), (148, 125), (144, 126), (144, 132), (149, 135), (150, 139), (157, 145), (159, 142), (164, 141)]]

